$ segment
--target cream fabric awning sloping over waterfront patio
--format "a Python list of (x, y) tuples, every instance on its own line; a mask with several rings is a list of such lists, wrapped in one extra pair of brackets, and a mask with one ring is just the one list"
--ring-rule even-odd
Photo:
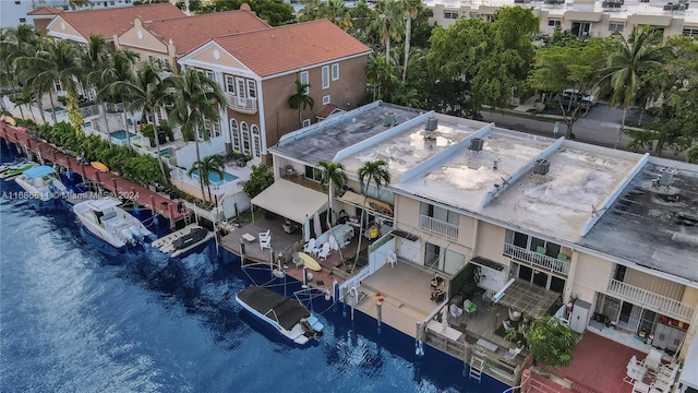
[(326, 209), (327, 195), (284, 179), (252, 199), (252, 204), (272, 213), (303, 223), (305, 216)]

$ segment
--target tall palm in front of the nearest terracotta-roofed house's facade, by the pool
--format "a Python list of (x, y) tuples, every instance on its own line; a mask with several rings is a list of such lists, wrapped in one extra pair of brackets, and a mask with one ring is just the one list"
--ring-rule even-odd
[[(227, 104), (220, 85), (204, 75), (201, 71), (189, 68), (184, 75), (172, 76), (176, 92), (173, 105), (168, 111), (172, 126), (181, 126), (184, 140), (194, 140), (196, 144), (196, 162), (201, 162), (198, 139), (208, 141), (210, 135), (204, 130), (206, 120), (212, 123), (220, 120), (218, 108)], [(201, 192), (204, 193), (204, 178), (198, 177)]]

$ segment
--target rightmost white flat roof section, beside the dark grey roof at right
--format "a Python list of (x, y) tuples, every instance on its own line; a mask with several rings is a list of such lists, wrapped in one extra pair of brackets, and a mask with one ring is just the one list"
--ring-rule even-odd
[(483, 213), (554, 238), (578, 241), (594, 210), (602, 210), (642, 155), (565, 141), (546, 159), (547, 175), (530, 171)]

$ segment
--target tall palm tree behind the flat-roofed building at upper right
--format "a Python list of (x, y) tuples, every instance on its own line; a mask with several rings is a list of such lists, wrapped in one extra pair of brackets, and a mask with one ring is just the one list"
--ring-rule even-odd
[(665, 46), (660, 31), (650, 26), (639, 31), (637, 26), (626, 39), (615, 33), (615, 50), (606, 60), (606, 67), (601, 69), (599, 85), (604, 91), (611, 91), (609, 107), (623, 105), (623, 120), (618, 130), (618, 140), (614, 148), (621, 144), (621, 138), (625, 129), (625, 120), (628, 109), (638, 97), (638, 91), (642, 85), (642, 79), (652, 70), (662, 66), (662, 59), (671, 48)]

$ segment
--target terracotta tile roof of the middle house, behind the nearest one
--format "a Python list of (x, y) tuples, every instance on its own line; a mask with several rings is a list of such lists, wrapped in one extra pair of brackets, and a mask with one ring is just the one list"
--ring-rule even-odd
[(272, 28), (263, 20), (246, 11), (227, 11), (153, 21), (146, 27), (167, 44), (174, 43), (177, 55), (191, 51), (222, 35)]

